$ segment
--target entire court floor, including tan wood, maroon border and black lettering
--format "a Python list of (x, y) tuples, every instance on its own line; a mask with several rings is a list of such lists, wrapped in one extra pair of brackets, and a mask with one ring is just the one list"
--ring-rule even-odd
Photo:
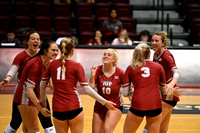
[[(13, 100), (13, 84), (10, 84), (3, 90), (0, 90), (0, 132), (3, 133), (6, 126), (11, 120), (12, 100)], [(183, 91), (180, 102), (173, 109), (169, 133), (200, 133), (200, 85), (180, 85)], [(84, 90), (79, 88), (83, 109), (84, 109), (84, 130), (83, 133), (92, 133), (92, 115), (95, 100), (86, 95)], [(51, 104), (52, 91), (47, 88), (47, 97)], [(123, 115), (115, 128), (114, 133), (123, 133), (123, 125), (127, 111), (130, 107), (128, 98), (123, 97), (124, 110)], [(142, 133), (145, 125), (145, 119), (141, 123), (136, 133)], [(17, 133), (21, 133), (21, 126)], [(40, 133), (44, 133), (40, 124)], [(70, 132), (69, 132), (70, 133)]]

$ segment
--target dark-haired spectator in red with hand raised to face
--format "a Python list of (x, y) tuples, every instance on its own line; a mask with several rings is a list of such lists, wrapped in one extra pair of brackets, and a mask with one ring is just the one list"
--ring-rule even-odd
[(95, 31), (94, 37), (88, 41), (88, 45), (108, 45), (104, 32), (101, 29)]

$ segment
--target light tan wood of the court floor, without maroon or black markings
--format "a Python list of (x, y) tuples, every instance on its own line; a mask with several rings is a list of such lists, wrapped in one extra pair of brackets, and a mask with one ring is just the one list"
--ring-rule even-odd
[[(84, 133), (91, 133), (92, 125), (92, 114), (94, 100), (88, 95), (80, 95), (84, 108)], [(12, 105), (11, 94), (0, 94), (0, 133), (3, 133), (6, 126), (9, 124), (11, 119), (11, 105)], [(48, 95), (49, 102), (51, 103), (52, 95)], [(124, 103), (128, 104), (129, 100), (123, 98)], [(199, 95), (186, 95), (181, 97), (181, 101), (178, 104), (191, 104), (200, 105)], [(199, 107), (200, 108), (200, 107)], [(122, 115), (120, 122), (118, 123), (114, 133), (122, 133), (123, 125), (126, 114)], [(137, 133), (141, 133), (144, 127), (145, 120), (143, 120)], [(172, 114), (169, 133), (200, 133), (200, 114)], [(40, 132), (44, 133), (40, 125)], [(21, 127), (17, 133), (21, 133)]]

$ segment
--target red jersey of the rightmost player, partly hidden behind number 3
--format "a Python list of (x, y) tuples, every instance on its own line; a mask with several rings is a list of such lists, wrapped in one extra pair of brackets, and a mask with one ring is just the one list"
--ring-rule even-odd
[[(163, 68), (165, 70), (166, 83), (168, 84), (169, 82), (171, 82), (171, 80), (173, 79), (172, 69), (177, 69), (174, 57), (171, 54), (171, 52), (169, 50), (165, 50), (159, 56), (157, 56), (157, 54), (154, 53), (153, 61), (158, 63), (158, 64), (161, 64), (163, 66)], [(166, 100), (166, 95), (163, 96), (163, 99)], [(172, 100), (173, 101), (179, 101), (179, 98), (173, 96)]]

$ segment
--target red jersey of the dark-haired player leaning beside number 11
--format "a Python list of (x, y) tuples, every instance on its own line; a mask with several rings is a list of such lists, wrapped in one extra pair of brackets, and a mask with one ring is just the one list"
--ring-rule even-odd
[(21, 73), (20, 81), (15, 92), (15, 103), (34, 106), (26, 94), (26, 88), (34, 88), (33, 91), (36, 97), (40, 100), (40, 81), (45, 69), (46, 67), (41, 56), (36, 56), (27, 62)]

